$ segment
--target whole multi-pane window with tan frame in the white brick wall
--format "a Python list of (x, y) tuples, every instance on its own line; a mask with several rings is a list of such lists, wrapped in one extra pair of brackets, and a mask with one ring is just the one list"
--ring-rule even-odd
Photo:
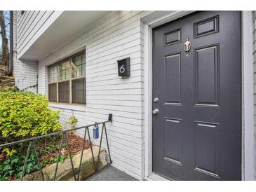
[(84, 51), (48, 67), (48, 100), (86, 103), (86, 53)]

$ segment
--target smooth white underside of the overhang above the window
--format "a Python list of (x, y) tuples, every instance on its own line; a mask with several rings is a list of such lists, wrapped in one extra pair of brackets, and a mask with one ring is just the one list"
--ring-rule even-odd
[(90, 25), (111, 11), (63, 11), (36, 41), (18, 55), (20, 60), (43, 60), (67, 41), (86, 31)]

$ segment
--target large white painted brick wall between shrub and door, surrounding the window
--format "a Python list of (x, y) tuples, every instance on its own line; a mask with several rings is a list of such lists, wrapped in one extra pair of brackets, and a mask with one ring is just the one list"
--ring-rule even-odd
[[(71, 39), (39, 61), (39, 93), (48, 95), (47, 67), (86, 46), (86, 106), (51, 104), (60, 109), (61, 123), (69, 116), (79, 126), (106, 121), (113, 165), (142, 179), (144, 177), (144, 65), (143, 29), (139, 11), (114, 11), (95, 22), (83, 34)], [(116, 60), (130, 57), (130, 78), (121, 79)], [(83, 134), (83, 132), (80, 132)], [(92, 135), (92, 133), (91, 133)], [(94, 141), (98, 142), (98, 141)], [(105, 140), (103, 141), (105, 143)]]

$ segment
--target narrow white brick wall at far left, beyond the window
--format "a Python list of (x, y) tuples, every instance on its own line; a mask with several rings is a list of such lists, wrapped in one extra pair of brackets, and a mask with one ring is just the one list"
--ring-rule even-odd
[[(17, 11), (13, 11), (13, 74), (15, 85), (20, 90), (23, 90), (29, 86), (36, 85), (38, 67), (37, 62), (22, 62), (18, 60), (17, 42)], [(27, 90), (37, 92), (37, 88), (29, 88)]]

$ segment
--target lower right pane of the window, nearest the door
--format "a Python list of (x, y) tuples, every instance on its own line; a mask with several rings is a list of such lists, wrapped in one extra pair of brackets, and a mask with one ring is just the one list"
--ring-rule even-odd
[(86, 78), (72, 81), (72, 102), (86, 103)]

